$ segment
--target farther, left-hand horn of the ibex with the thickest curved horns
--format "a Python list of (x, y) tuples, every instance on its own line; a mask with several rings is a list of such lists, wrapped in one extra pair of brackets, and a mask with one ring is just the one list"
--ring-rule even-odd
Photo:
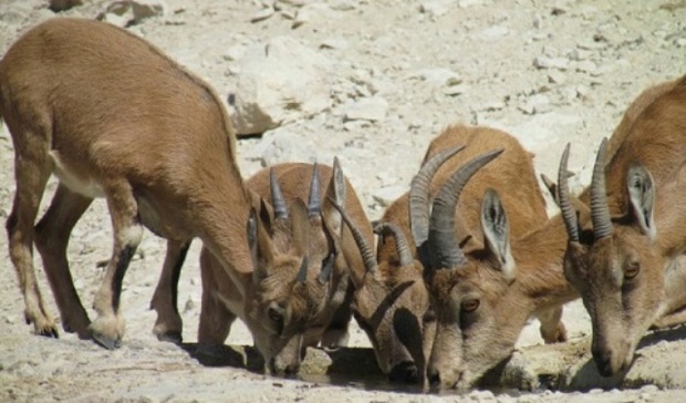
[(409, 228), (418, 250), (419, 260), (426, 262), (427, 250), (425, 242), (429, 232), (429, 189), (432, 179), (438, 168), (448, 158), (465, 148), (464, 145), (445, 149), (429, 158), (412, 179), (409, 187)]

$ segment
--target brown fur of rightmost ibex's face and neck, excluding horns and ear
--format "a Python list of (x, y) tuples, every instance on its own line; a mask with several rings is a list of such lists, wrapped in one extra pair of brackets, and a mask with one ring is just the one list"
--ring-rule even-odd
[[(633, 123), (624, 125), (624, 141), (605, 165), (614, 234), (594, 240), (584, 231), (581, 242), (570, 241), (565, 254), (565, 275), (579, 289), (593, 320), (593, 353), (605, 375), (631, 364), (651, 324), (684, 308), (683, 289), (666, 288), (665, 277), (683, 277), (676, 259), (686, 249), (686, 210), (678, 202), (685, 196), (685, 84), (686, 78), (682, 78), (656, 86), (654, 101), (636, 113)], [(637, 213), (630, 204), (626, 175), (636, 162), (654, 182), (654, 240), (637, 225)], [(589, 225), (582, 223), (582, 228)], [(631, 267), (640, 270), (633, 279), (624, 275)]]

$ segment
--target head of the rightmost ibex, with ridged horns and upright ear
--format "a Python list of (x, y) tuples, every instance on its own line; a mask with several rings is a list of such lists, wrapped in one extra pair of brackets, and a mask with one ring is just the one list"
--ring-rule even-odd
[[(611, 217), (605, 188), (603, 140), (591, 184), (592, 230), (584, 228), (569, 197), (569, 145), (560, 163), (559, 200), (568, 230), (564, 275), (581, 293), (593, 326), (592, 352), (604, 376), (626, 370), (636, 345), (664, 300), (665, 258), (656, 252), (651, 173), (631, 164), (625, 173), (628, 210)], [(620, 197), (616, 196), (615, 197)]]

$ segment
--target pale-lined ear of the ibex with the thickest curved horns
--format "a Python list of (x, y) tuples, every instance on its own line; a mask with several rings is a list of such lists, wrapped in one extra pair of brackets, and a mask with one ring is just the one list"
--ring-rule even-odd
[(510, 250), (510, 225), (500, 197), (493, 189), (486, 190), (484, 195), (481, 228), (488, 249), (500, 264), (502, 276), (508, 282), (514, 281), (516, 265)]

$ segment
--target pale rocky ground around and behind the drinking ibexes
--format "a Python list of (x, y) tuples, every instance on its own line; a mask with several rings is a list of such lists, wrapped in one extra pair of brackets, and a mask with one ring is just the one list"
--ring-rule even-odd
[[(339, 156), (371, 219), (407, 189), (433, 136), (457, 122), (508, 131), (536, 154), (537, 170), (549, 175), (557, 169), (562, 147), (572, 142), (570, 168), (579, 174), (572, 186), (579, 189), (589, 183), (597, 144), (612, 133), (626, 105), (643, 89), (686, 72), (684, 0), (137, 2), (158, 6), (147, 9), (126, 1), (84, 3), (55, 14), (46, 1), (0, 0), (0, 54), (25, 29), (48, 18), (100, 16), (127, 25), (225, 97), (236, 126), (246, 135), (238, 144), (246, 177), (277, 162), (330, 163)], [(2, 128), (3, 218), (14, 188), (12, 158), (9, 133)], [(49, 187), (53, 189), (54, 183)], [(86, 306), (103, 275), (96, 262), (107, 257), (110, 245), (110, 220), (98, 200), (70, 244), (76, 289)], [(6, 236), (0, 237), (0, 249), (7, 250)], [(198, 245), (191, 248), (179, 286), (184, 335), (190, 348), (201, 293), (198, 249)], [(17, 276), (9, 258), (1, 259), (6, 281), (0, 283), (0, 401), (437, 399), (380, 382), (373, 361), (365, 359), (368, 349), (363, 348), (370, 344), (356, 327), (351, 344), (360, 349), (349, 352), (362, 354), (357, 362), (365, 363), (365, 370), (330, 378), (313, 374), (305, 376), (308, 381), (206, 366), (187, 351), (157, 342), (150, 332), (155, 316), (147, 306), (163, 257), (164, 242), (146, 234), (124, 281), (127, 333), (116, 351), (72, 334), (62, 333), (59, 340), (31, 335), (23, 322)], [(56, 314), (40, 262), (38, 267), (43, 293)], [(553, 372), (583, 372), (589, 366), (586, 350), (575, 343), (583, 344), (590, 333), (588, 316), (575, 302), (564, 320), (571, 343), (529, 347), (541, 342), (532, 323), (512, 361), (523, 360), (524, 369), (537, 362), (559, 364), (565, 361), (557, 356), (571, 351), (585, 359), (576, 360), (576, 369), (568, 365)], [(686, 396), (684, 333), (677, 329), (646, 339), (640, 350), (646, 364), (637, 365), (633, 383), (622, 389), (591, 376), (581, 384), (554, 383), (567, 392), (530, 393), (506, 382), (508, 388), (449, 396), (484, 402), (680, 401)], [(250, 344), (250, 335), (237, 324), (228, 343)], [(319, 355), (311, 351), (309, 359)], [(572, 373), (568, 379), (579, 376)]]

